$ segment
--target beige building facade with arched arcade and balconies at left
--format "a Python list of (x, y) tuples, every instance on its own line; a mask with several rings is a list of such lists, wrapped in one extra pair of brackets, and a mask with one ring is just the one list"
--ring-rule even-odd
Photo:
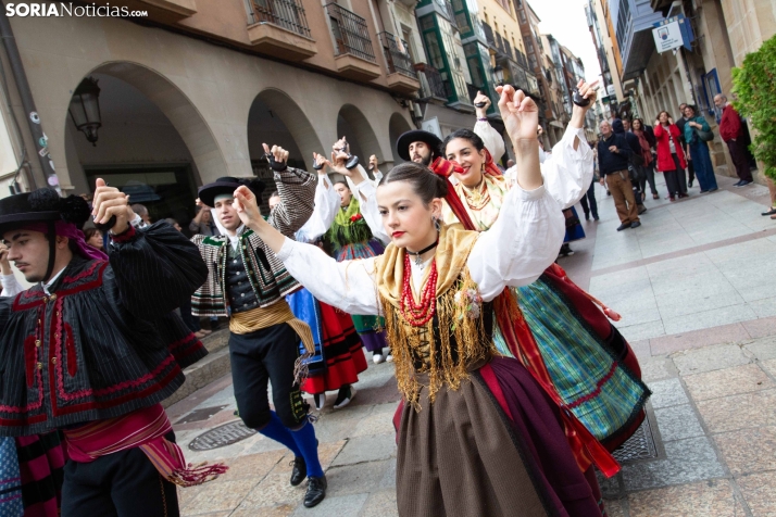
[[(90, 192), (102, 176), (154, 218), (186, 223), (198, 186), (271, 177), (262, 143), (310, 169), (313, 152), (346, 136), (364, 161), (376, 154), (390, 166), (396, 139), (415, 127), (412, 100), (425, 77), (413, 65), (426, 56), (414, 2), (135, 3), (148, 17), (10, 18), (65, 193)], [(99, 88), (93, 144), (68, 115), (87, 78)], [(8, 124), (15, 161), (26, 156), (27, 188), (40, 187), (47, 178), (12, 79), (2, 110), (16, 122)]]

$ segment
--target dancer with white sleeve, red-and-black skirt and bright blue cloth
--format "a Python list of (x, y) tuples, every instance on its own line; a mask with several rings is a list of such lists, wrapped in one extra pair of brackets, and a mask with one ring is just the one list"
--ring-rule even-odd
[[(313, 159), (316, 167), (321, 167), (315, 189), (315, 209), (295, 237), (299, 242), (320, 244), (321, 238), (331, 227), (340, 211), (341, 200), (326, 175), (324, 156), (315, 153)], [(302, 383), (302, 391), (313, 395), (318, 411), (324, 407), (327, 391), (338, 392), (334, 402), (335, 409), (347, 406), (355, 396), (352, 384), (359, 381), (359, 374), (366, 370), (366, 358), (353, 319), (315, 300), (304, 288), (289, 294), (286, 300), (293, 314), (310, 326), (315, 343), (313, 356), (305, 361), (308, 378)]]

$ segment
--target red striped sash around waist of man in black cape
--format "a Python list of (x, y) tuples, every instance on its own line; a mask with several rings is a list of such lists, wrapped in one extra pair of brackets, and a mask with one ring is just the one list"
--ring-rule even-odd
[(211, 481), (224, 474), (224, 464), (186, 464), (180, 447), (164, 438), (173, 430), (161, 404), (128, 415), (98, 420), (65, 430), (67, 455), (78, 463), (89, 463), (108, 454), (140, 447), (164, 479), (180, 487)]

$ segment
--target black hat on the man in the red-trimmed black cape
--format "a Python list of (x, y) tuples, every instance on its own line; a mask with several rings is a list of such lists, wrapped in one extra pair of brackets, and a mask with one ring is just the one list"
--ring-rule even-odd
[(38, 189), (0, 199), (0, 237), (27, 223), (65, 220), (78, 229), (89, 218), (89, 205), (78, 196), (61, 198), (53, 189)]

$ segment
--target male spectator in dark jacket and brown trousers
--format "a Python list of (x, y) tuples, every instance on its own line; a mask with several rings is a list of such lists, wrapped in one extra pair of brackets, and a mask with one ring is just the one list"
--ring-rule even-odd
[[(609, 121), (601, 122), (601, 139), (598, 141), (598, 166), (601, 171), (601, 185), (609, 187), (614, 198), (614, 206), (622, 223), (617, 231), (641, 226), (633, 185), (628, 176), (630, 146), (624, 135), (615, 135)], [(604, 180), (605, 178), (605, 180)]]

